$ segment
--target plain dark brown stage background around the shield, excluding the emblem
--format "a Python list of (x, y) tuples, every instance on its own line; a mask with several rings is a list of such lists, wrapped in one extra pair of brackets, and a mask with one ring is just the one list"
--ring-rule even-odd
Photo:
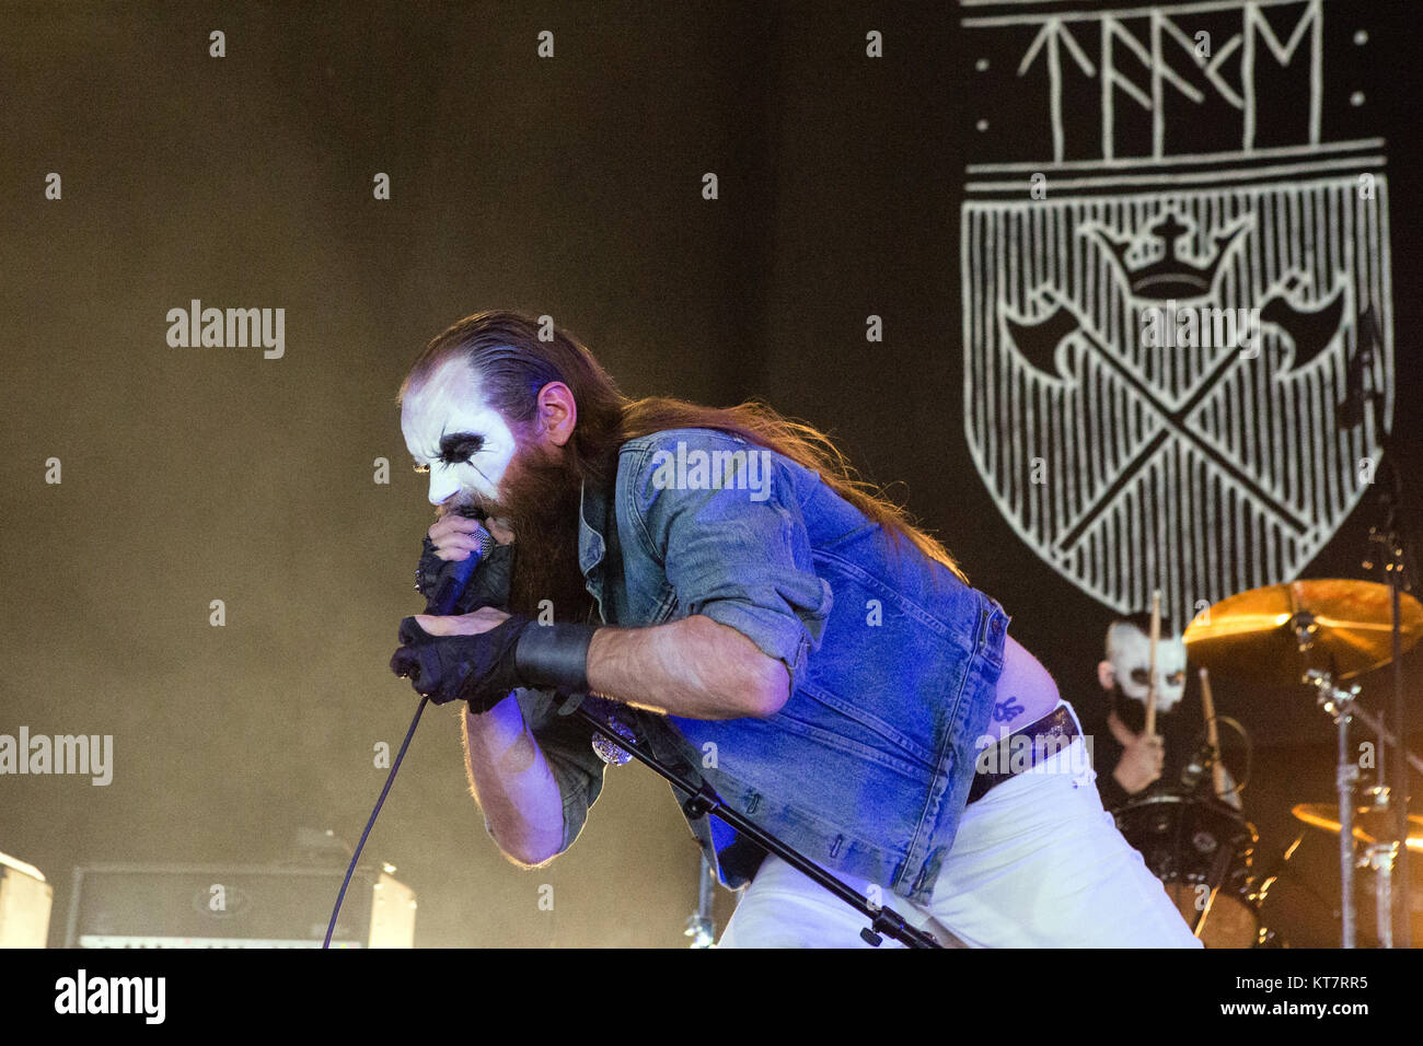
[[(431, 522), (393, 397), (424, 342), (480, 309), (551, 315), (629, 394), (754, 394), (828, 428), (902, 484), (1064, 693), (1090, 693), (1111, 612), (1013, 534), (965, 441), (965, 167), (1046, 134), (1040, 90), (1022, 114), (1005, 101), (1022, 41), (966, 13), (0, 6), (0, 733), (114, 737), (107, 787), (0, 777), (0, 850), (57, 887), (51, 942), (75, 865), (259, 864), (300, 827), (359, 837), (386, 776), (373, 746), (397, 746), (413, 712), (387, 660)], [(1417, 9), (1329, 1), (1323, 19), (1368, 31), (1329, 51), (1323, 138), (1386, 141), (1412, 522)], [(171, 347), (165, 315), (192, 299), (283, 307), (285, 354)], [(1299, 575), (1368, 576), (1376, 517), (1365, 498)], [(1332, 798), (1331, 726), (1302, 693), (1222, 706), (1266, 724), (1247, 804), (1278, 854), (1288, 807)], [(451, 709), (430, 710), (367, 848), (417, 891), (418, 945), (684, 945), (697, 852), (666, 786), (609, 770), (578, 844), (521, 871), (484, 833), (458, 736)], [(1328, 840), (1312, 845), (1328, 895)]]

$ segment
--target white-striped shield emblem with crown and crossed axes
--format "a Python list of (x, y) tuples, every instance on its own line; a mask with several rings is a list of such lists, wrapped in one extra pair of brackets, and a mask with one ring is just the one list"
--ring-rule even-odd
[(1037, 165), (1036, 199), (1033, 165), (1002, 165), (998, 198), (969, 184), (963, 417), (1039, 556), (1118, 612), (1160, 588), (1184, 626), (1298, 576), (1369, 490), (1393, 410), (1387, 185), (1360, 175), (1377, 157), (1309, 145), (1288, 178), (1248, 151), (1160, 176), (1164, 137), (1140, 161)]

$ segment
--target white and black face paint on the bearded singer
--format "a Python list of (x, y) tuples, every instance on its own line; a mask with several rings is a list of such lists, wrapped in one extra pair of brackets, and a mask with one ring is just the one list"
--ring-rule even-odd
[(464, 360), (450, 359), (406, 391), (400, 431), (416, 470), (430, 472), (431, 505), (499, 501), (518, 444), (480, 386)]

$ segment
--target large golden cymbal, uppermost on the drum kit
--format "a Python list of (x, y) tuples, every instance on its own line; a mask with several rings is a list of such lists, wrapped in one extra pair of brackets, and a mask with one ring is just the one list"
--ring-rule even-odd
[[(1406, 652), (1423, 638), (1423, 605), (1400, 593), (1399, 618)], [(1299, 649), (1296, 623), (1309, 629), (1308, 650)], [(1202, 611), (1185, 629), (1185, 646), (1192, 662), (1215, 675), (1292, 686), (1311, 667), (1332, 670), (1340, 680), (1387, 665), (1392, 625), (1387, 585), (1292, 581), (1239, 592)]]

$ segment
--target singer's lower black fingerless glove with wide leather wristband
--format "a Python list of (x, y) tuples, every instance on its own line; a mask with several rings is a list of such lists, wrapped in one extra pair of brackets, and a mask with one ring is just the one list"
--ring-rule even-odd
[(596, 630), (596, 625), (535, 625), (514, 615), (475, 636), (433, 636), (406, 618), (390, 670), (435, 704), (465, 700), (478, 714), (519, 686), (588, 690), (588, 646)]

